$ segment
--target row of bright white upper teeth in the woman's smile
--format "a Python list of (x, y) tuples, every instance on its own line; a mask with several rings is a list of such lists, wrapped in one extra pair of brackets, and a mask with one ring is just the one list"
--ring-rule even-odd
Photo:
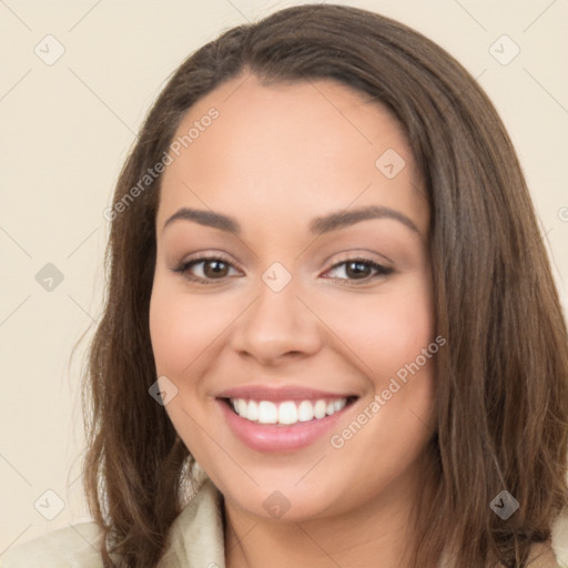
[(347, 398), (302, 400), (300, 404), (286, 400), (280, 405), (271, 400), (245, 400), (244, 398), (232, 398), (230, 402), (241, 418), (258, 422), (258, 424), (292, 425), (331, 416), (345, 407)]

